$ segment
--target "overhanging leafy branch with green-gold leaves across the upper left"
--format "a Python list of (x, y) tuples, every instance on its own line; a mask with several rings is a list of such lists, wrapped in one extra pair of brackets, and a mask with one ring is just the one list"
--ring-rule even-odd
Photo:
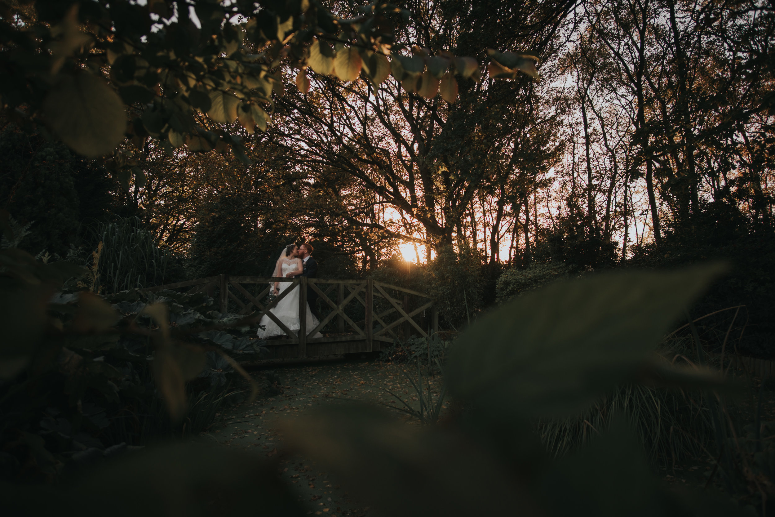
[[(307, 70), (377, 87), (392, 74), (412, 94), (455, 102), (457, 79), (478, 80), (472, 57), (399, 41), (410, 24), (397, 5), (372, 2), (341, 18), (316, 0), (291, 2), (37, 0), (0, 11), (0, 103), (35, 130), (40, 122), (78, 153), (111, 153), (129, 136), (171, 153), (232, 150), (236, 131), (267, 128), (283, 75), (310, 88)], [(411, 31), (408, 31), (411, 32)], [(537, 57), (491, 51), (493, 78), (536, 77)], [(206, 117), (204, 115), (207, 115)], [(135, 166), (133, 168), (133, 166)], [(131, 156), (115, 169), (139, 175)]]

